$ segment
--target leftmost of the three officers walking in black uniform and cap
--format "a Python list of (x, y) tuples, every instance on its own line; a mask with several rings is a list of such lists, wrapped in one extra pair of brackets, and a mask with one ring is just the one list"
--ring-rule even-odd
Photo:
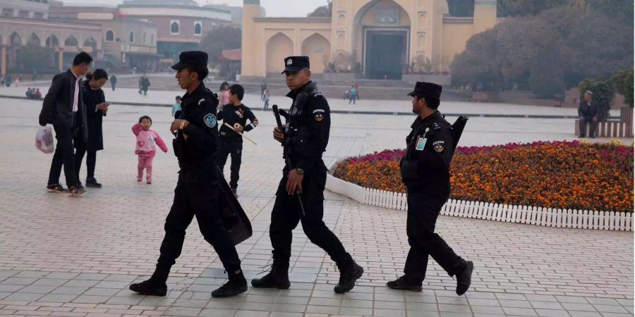
[(140, 294), (165, 296), (170, 268), (181, 255), (186, 229), (196, 216), (200, 232), (212, 244), (229, 275), (229, 282), (214, 290), (212, 297), (234, 296), (247, 290), (247, 281), (234, 243), (222, 223), (217, 204), (216, 166), (210, 163), (216, 161), (218, 147), (218, 98), (202, 83), (208, 73), (207, 53), (184, 51), (179, 59), (172, 68), (177, 70), (176, 79), (181, 88), (188, 91), (181, 103), (183, 112), (170, 127), (176, 136), (173, 145), (181, 168), (179, 182), (165, 220), (165, 237), (155, 273), (149, 280), (131, 285), (130, 289)]

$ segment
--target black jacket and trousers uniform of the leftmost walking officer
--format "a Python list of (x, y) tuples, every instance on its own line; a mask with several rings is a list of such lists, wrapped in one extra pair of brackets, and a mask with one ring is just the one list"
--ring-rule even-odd
[(242, 277), (241, 261), (218, 208), (216, 166), (210, 163), (216, 161), (218, 147), (217, 95), (200, 82), (192, 93), (183, 95), (181, 105), (180, 118), (189, 123), (177, 132), (173, 142), (181, 170), (174, 189), (174, 203), (165, 220), (157, 272), (169, 272), (181, 255), (186, 229), (196, 216), (200, 232), (214, 247), (229, 279)]

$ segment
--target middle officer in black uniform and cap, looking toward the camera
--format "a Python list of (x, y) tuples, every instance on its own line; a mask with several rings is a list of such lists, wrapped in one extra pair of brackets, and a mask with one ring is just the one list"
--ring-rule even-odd
[[(291, 231), (298, 222), (311, 242), (324, 249), (337, 263), (339, 282), (334, 291), (349, 292), (363, 274), (351, 254), (348, 254), (337, 237), (327, 228), (324, 213), (324, 187), (327, 168), (322, 161), (322, 152), (329, 142), (331, 117), (329, 104), (315, 82), (311, 82), (307, 56), (284, 58), (286, 85), (291, 92), (286, 96), (294, 102), (289, 110), (285, 132), (274, 128), (274, 139), (286, 147), (291, 160), (291, 169), (282, 173), (276, 201), (271, 214), (269, 235), (273, 247), (271, 272), (252, 280), (253, 287), (275, 287), (287, 289), (289, 282), (289, 258), (291, 257)], [(301, 192), (304, 213), (296, 196)]]

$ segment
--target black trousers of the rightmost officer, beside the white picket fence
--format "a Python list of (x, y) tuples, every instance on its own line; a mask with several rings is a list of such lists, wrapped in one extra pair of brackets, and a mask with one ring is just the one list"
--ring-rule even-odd
[(412, 280), (423, 281), (428, 268), (428, 256), (432, 256), (450, 276), (463, 271), (466, 261), (456, 255), (435, 232), (437, 217), (447, 201), (447, 196), (409, 190), (407, 200), (406, 232), (410, 251), (406, 258), (404, 273)]

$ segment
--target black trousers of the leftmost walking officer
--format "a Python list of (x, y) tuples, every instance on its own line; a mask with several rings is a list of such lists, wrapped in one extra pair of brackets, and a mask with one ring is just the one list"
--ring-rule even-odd
[[(181, 173), (183, 173), (181, 171)], [(194, 216), (205, 241), (212, 244), (228, 273), (241, 269), (241, 260), (229, 232), (223, 225), (217, 203), (217, 185), (208, 182), (179, 182), (174, 189), (174, 202), (165, 219), (165, 237), (157, 268), (169, 271), (181, 255), (186, 229)]]

